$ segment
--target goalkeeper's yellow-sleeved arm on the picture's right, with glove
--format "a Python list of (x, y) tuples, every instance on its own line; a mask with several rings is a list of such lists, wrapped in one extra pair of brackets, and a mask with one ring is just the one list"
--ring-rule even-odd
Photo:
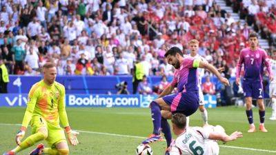
[(65, 110), (64, 98), (65, 98), (65, 88), (62, 87), (61, 88), (61, 96), (59, 98), (59, 103), (58, 103), (59, 118), (61, 121), (61, 125), (63, 125), (63, 127), (66, 130), (70, 144), (75, 146), (79, 143), (79, 141), (77, 140), (77, 134), (79, 134), (79, 132), (75, 132), (75, 131), (71, 130), (71, 127), (68, 122), (67, 113)]

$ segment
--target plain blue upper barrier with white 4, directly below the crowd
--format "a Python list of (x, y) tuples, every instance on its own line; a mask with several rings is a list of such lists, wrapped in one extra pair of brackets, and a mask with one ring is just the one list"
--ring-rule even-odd
[[(32, 85), (42, 79), (41, 76), (10, 75), (8, 92), (14, 94), (28, 93)], [(210, 79), (219, 87), (221, 83), (216, 77)], [(115, 85), (126, 81), (128, 91), (132, 92), (132, 76), (57, 76), (57, 81), (65, 86), (66, 94), (117, 94)], [(150, 85), (159, 85), (161, 76), (148, 76)], [(168, 76), (168, 81), (172, 81), (172, 76)], [(202, 79), (204, 83), (205, 78)], [(235, 81), (231, 78), (230, 82)]]

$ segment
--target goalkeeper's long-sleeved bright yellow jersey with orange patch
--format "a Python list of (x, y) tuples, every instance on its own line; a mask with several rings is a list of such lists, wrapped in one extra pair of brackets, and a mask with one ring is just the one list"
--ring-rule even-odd
[(65, 87), (60, 83), (47, 85), (43, 80), (32, 85), (22, 126), (28, 127), (32, 116), (41, 116), (51, 125), (69, 125), (65, 110)]

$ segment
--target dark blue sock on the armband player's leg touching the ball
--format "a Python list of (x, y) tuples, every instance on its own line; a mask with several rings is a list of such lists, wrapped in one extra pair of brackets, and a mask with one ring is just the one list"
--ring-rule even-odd
[(153, 134), (160, 134), (160, 128), (161, 128), (161, 110), (155, 101), (152, 101), (150, 103), (151, 108), (151, 117), (152, 117), (152, 123), (153, 123)]

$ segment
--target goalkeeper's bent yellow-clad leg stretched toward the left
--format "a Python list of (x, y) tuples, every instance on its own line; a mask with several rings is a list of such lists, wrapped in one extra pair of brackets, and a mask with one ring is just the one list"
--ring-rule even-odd
[(48, 137), (47, 123), (40, 116), (32, 118), (32, 135), (28, 136), (20, 145), (12, 149), (10, 152), (21, 152), (23, 149), (31, 147), (35, 143), (42, 141)]

